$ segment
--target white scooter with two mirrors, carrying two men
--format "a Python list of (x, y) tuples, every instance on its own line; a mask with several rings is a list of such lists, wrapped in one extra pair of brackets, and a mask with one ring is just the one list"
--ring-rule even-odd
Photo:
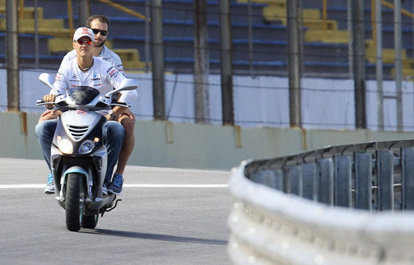
[[(39, 80), (57, 92), (50, 75), (43, 73)], [(108, 92), (105, 97), (100, 96), (95, 88), (77, 86), (70, 88), (67, 95), (58, 95), (55, 102), (37, 101), (37, 106), (55, 104), (55, 109), (62, 112), (57, 117), (50, 164), (55, 198), (66, 210), (68, 230), (95, 228), (99, 214), (103, 216), (120, 201), (115, 194), (106, 195), (102, 191), (107, 166), (107, 150), (102, 135), (106, 117), (96, 111), (109, 110), (112, 106), (130, 107), (130, 104), (112, 103), (111, 96), (137, 87), (137, 81), (125, 79), (119, 88)]]

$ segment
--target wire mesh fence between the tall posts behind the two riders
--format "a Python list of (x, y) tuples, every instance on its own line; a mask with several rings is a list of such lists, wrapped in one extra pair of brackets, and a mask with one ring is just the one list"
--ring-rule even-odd
[[(1, 68), (6, 68), (7, 1), (0, 0)], [(41, 85), (37, 82), (37, 74), (45, 70), (51, 74), (57, 71), (63, 55), (72, 48), (73, 30), (85, 25), (82, 21), (85, 13), (105, 14), (110, 19), (106, 46), (121, 57), (126, 76), (139, 79), (141, 85), (140, 97), (132, 110), (139, 119), (153, 119), (154, 2), (14, 1), (20, 6), (17, 10), (20, 109), (39, 111), (33, 108), (33, 97), (41, 97), (46, 90), (38, 88)], [(203, 121), (206, 123), (222, 124), (223, 106), (232, 104), (236, 125), (290, 126), (287, 1), (230, 1), (231, 102), (222, 100), (223, 37), (220, 29), (224, 21), (221, 2), (159, 2), (162, 8), (162, 63), (166, 71), (165, 119), (199, 121), (197, 90), (200, 86), (195, 83), (200, 80), (199, 75), (203, 75), (201, 89), (205, 93)], [(297, 0), (302, 127), (355, 128), (355, 40), (352, 32), (356, 19), (364, 19), (365, 50), (358, 52), (365, 56), (366, 127), (414, 130), (413, 2), (359, 1), (363, 3), (364, 16), (356, 17), (353, 10), (357, 2)], [(380, 7), (378, 3), (381, 3)], [(398, 12), (394, 11), (395, 6)], [(375, 13), (379, 8), (380, 17), (378, 12)], [(401, 14), (400, 20), (396, 14)], [(395, 35), (396, 30), (401, 32), (400, 39), (395, 37), (400, 36)], [(381, 46), (377, 41), (380, 32)], [(396, 47), (399, 42), (401, 46)], [(380, 57), (376, 52), (378, 47), (382, 51)], [(399, 63), (401, 68), (397, 67)], [(203, 66), (201, 71), (195, 67), (200, 65)], [(380, 79), (379, 68), (382, 69)], [(6, 70), (0, 70), (0, 77), (3, 77), (1, 92), (6, 95)], [(7, 110), (6, 99), (1, 99), (0, 108)]]

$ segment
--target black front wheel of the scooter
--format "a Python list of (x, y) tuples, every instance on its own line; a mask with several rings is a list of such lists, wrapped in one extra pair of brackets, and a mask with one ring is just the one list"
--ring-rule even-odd
[(83, 175), (79, 173), (68, 174), (66, 183), (66, 228), (70, 231), (79, 231), (85, 210), (85, 192), (83, 188)]

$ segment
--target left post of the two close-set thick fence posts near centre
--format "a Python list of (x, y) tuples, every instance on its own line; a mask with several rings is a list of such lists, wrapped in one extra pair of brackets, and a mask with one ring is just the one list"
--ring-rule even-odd
[(210, 95), (208, 92), (210, 59), (208, 54), (207, 1), (195, 0), (194, 11), (195, 120), (197, 123), (208, 123), (210, 119)]

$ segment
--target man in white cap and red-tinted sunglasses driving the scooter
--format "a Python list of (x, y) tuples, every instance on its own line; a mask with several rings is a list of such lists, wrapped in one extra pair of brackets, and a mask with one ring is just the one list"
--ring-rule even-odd
[[(92, 50), (94, 46), (92, 43), (94, 39), (95, 36), (90, 28), (78, 28), (75, 31), (72, 46), (77, 50), (77, 58), (72, 59), (59, 68), (55, 77), (55, 83), (53, 84), (61, 95), (66, 94), (66, 90), (73, 86), (91, 86), (99, 90), (101, 95), (105, 95), (114, 87), (117, 88), (121, 81), (126, 79), (111, 63), (93, 57)], [(126, 92), (128, 93), (121, 94), (119, 101), (131, 102), (137, 97), (136, 90)], [(50, 93), (45, 95), (43, 100), (53, 102), (55, 98), (56, 95)], [(126, 107), (116, 106), (112, 112), (114, 115), (119, 115), (125, 110)], [(52, 115), (59, 115), (59, 112), (52, 113)], [(111, 178), (124, 139), (124, 128), (121, 124), (112, 121), (113, 115), (107, 114), (106, 118), (109, 120), (104, 126), (104, 135), (108, 148), (108, 170), (104, 181), (104, 191), (108, 187), (108, 192), (120, 194), (124, 179), (114, 176), (111, 181)], [(39, 138), (43, 156), (50, 169), (50, 148), (56, 125), (56, 119), (48, 119), (40, 121), (36, 126), (36, 134)]]

